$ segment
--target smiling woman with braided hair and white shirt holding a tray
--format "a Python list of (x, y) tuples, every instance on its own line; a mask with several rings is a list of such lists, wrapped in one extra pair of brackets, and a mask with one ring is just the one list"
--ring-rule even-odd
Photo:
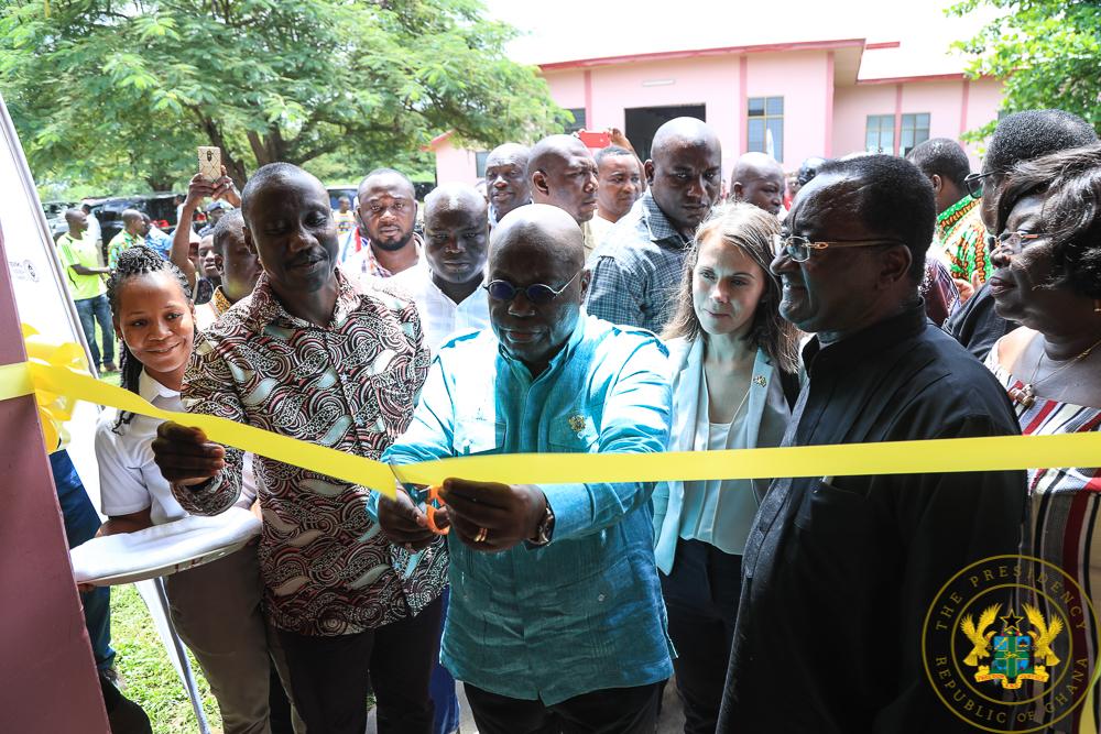
[[(179, 388), (195, 341), (194, 307), (183, 273), (154, 250), (124, 250), (108, 282), (121, 344), (122, 387), (153, 405), (183, 410)], [(101, 535), (182, 519), (150, 447), (161, 420), (105, 412), (96, 428)], [(242, 492), (242, 494), (244, 494)], [(255, 497), (243, 497), (248, 507)], [(269, 724), (271, 659), (261, 614), (257, 548), (165, 577), (170, 616), (218, 700), (226, 734), (263, 734)]]

